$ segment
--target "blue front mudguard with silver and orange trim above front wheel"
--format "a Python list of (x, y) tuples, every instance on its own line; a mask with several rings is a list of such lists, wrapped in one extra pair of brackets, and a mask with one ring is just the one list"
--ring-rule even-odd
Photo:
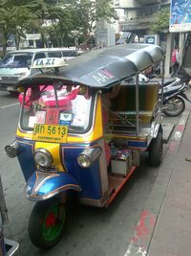
[(28, 180), (25, 193), (31, 200), (44, 200), (66, 191), (81, 191), (74, 177), (67, 173), (45, 173), (36, 171)]

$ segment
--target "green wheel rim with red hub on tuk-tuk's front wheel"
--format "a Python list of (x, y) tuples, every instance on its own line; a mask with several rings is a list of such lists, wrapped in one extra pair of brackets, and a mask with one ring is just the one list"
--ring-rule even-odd
[(48, 210), (43, 221), (43, 238), (46, 241), (55, 240), (61, 233), (62, 227), (65, 222), (64, 207), (55, 202)]

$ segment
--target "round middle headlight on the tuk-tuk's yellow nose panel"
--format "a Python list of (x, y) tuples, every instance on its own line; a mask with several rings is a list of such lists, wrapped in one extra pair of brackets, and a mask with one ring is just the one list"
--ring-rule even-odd
[(36, 164), (41, 167), (50, 167), (53, 164), (53, 155), (45, 149), (37, 149), (33, 153), (33, 158)]

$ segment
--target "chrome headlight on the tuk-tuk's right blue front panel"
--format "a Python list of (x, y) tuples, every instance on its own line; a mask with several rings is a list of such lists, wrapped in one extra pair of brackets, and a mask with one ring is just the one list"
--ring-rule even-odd
[(77, 156), (77, 163), (80, 167), (89, 168), (100, 156), (102, 150), (99, 147), (87, 149)]

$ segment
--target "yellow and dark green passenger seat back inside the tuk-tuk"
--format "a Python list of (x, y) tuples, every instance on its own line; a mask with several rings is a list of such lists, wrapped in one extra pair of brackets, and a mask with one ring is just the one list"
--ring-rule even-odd
[[(147, 82), (138, 85), (138, 105), (139, 105), (139, 121), (141, 126), (146, 126), (151, 123), (153, 111), (159, 97), (159, 82)], [(136, 85), (122, 84), (120, 91), (111, 103), (111, 112), (117, 115), (125, 115), (125, 119), (136, 124)], [(112, 120), (113, 114), (110, 114), (109, 124), (116, 125), (122, 128), (124, 122), (122, 119)], [(133, 128), (133, 127), (132, 127)], [(134, 127), (135, 128), (135, 127)], [(125, 129), (125, 126), (124, 126)]]

